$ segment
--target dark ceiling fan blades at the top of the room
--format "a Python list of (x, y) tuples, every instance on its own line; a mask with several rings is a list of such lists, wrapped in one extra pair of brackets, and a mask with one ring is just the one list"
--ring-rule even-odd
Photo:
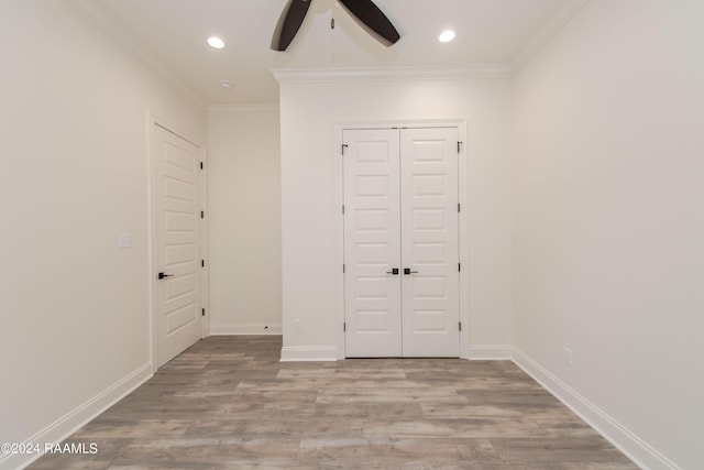
[[(300, 29), (311, 1), (312, 0), (288, 0), (274, 30), (272, 50), (286, 51)], [(385, 46), (391, 46), (400, 39), (396, 28), (394, 28), (388, 18), (386, 18), (372, 0), (339, 1), (366, 32)]]

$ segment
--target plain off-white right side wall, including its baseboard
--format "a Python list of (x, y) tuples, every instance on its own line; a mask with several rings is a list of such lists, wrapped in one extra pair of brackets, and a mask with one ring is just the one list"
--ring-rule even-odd
[(702, 467), (703, 18), (592, 0), (514, 84), (518, 353), (650, 468)]

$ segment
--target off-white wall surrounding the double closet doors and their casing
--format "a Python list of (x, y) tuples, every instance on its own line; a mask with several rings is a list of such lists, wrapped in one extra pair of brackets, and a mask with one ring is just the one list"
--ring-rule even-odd
[[(284, 359), (343, 356), (341, 186), (336, 124), (466, 120), (469, 343), (510, 337), (509, 80), (306, 83), (278, 77), (282, 128)], [(294, 319), (300, 328), (294, 331)]]

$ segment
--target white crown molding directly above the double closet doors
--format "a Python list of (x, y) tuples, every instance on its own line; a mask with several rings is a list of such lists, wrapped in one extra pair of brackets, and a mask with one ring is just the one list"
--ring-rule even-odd
[(458, 67), (273, 68), (279, 84), (510, 78), (506, 64)]

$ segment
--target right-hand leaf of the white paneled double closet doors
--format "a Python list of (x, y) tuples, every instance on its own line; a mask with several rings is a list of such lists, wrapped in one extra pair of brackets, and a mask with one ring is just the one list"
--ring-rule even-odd
[(460, 356), (458, 129), (400, 131), (405, 357)]

